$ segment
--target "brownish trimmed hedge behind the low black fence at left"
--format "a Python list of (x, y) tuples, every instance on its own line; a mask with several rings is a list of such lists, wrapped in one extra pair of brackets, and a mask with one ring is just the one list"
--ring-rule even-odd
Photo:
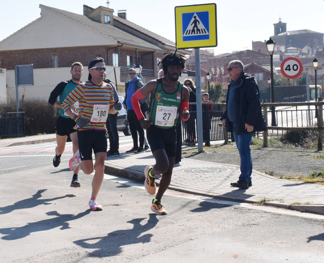
[[(44, 99), (24, 99), (19, 103), (19, 111), (25, 112), (26, 135), (55, 133), (59, 109)], [(0, 104), (0, 113), (16, 112), (16, 101)]]

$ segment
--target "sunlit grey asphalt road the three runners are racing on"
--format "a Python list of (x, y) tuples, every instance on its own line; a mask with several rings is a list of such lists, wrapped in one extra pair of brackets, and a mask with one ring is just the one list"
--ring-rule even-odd
[(1, 262), (322, 261), (323, 216), (174, 191), (162, 200), (168, 215), (156, 216), (143, 184), (108, 175), (104, 210), (92, 212), (92, 176), (69, 187), (68, 159), (54, 168), (50, 148), (1, 153)]

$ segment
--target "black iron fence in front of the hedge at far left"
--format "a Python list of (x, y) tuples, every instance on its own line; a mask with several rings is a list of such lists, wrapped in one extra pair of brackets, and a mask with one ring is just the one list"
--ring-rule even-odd
[(0, 138), (25, 136), (25, 112), (0, 113)]

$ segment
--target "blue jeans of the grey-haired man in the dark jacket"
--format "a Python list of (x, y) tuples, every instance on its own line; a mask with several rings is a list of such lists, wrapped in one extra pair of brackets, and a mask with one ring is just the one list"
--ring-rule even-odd
[(252, 141), (253, 132), (240, 133), (237, 135), (237, 122), (233, 122), (233, 135), (241, 159), (241, 174), (238, 179), (245, 180), (249, 183), (252, 174), (252, 156), (250, 144)]

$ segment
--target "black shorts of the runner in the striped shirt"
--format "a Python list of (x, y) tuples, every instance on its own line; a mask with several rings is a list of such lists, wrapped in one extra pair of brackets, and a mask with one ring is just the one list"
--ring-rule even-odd
[(81, 161), (92, 160), (92, 150), (95, 154), (107, 152), (106, 131), (78, 131), (78, 144)]

